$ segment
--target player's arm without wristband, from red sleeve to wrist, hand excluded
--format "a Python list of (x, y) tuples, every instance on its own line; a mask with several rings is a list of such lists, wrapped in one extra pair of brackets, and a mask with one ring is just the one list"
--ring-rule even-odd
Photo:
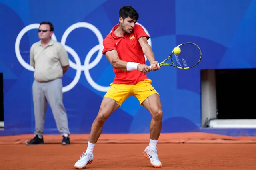
[(138, 41), (140, 43), (140, 46), (142, 47), (143, 53), (146, 55), (150, 64), (152, 64), (152, 62), (155, 61), (155, 56), (154, 56), (154, 53), (152, 51), (152, 48), (148, 44), (147, 38), (146, 37), (141, 37), (141, 38), (139, 38)]

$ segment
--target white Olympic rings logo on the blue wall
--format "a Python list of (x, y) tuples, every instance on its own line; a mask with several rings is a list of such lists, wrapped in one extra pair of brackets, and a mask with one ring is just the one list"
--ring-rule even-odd
[[(140, 23), (136, 23), (140, 26), (142, 26)], [(38, 29), (40, 26), (40, 24), (30, 24), (28, 26), (26, 26), (25, 28), (23, 28), (20, 33), (18, 34), (17, 38), (16, 38), (16, 42), (15, 42), (15, 53), (16, 53), (16, 57), (19, 61), (19, 63), (27, 70), (29, 71), (34, 71), (34, 68), (26, 63), (26, 61), (24, 61), (24, 59), (22, 58), (21, 54), (20, 54), (20, 40), (22, 39), (22, 37), (24, 36), (24, 34), (26, 34), (26, 32), (28, 32), (29, 30), (32, 29)], [(74, 51), (74, 49), (72, 49), (71, 47), (65, 45), (66, 43), (66, 39), (68, 37), (68, 35), (70, 34), (70, 32), (72, 32), (73, 30), (75, 30), (76, 28), (88, 28), (89, 30), (91, 30), (92, 32), (94, 32), (94, 34), (97, 36), (99, 44), (94, 46), (92, 49), (90, 49), (90, 51), (88, 52), (88, 54), (85, 57), (84, 60), (84, 65), (81, 64), (81, 60), (80, 57), (78, 56), (78, 54), (76, 53), (76, 51)], [(144, 28), (144, 26), (142, 26), (142, 28)], [(148, 31), (146, 30), (146, 28), (144, 28), (145, 32), (149, 35)], [(112, 31), (112, 29), (110, 30), (110, 32)], [(149, 35), (150, 36), (150, 35)], [(57, 41), (56, 36), (53, 34), (52, 35), (52, 39)], [(82, 71), (84, 71), (84, 75), (86, 77), (86, 80), (88, 81), (88, 83), (96, 90), (101, 91), (101, 92), (106, 92), (108, 91), (108, 89), (110, 88), (110, 86), (101, 86), (98, 85), (91, 77), (89, 70), (92, 69), (93, 67), (95, 67), (101, 60), (103, 54), (102, 54), (102, 50), (103, 50), (103, 36), (101, 34), (101, 32), (98, 30), (98, 28), (96, 28), (94, 25), (87, 23), (87, 22), (78, 22), (75, 23), (73, 25), (71, 25), (70, 27), (68, 27), (68, 29), (64, 32), (60, 43), (62, 45), (64, 45), (66, 51), (68, 53), (70, 53), (70, 55), (72, 55), (72, 57), (74, 58), (76, 63), (73, 63), (70, 59), (69, 59), (69, 64), (70, 67), (72, 69), (76, 69), (76, 75), (73, 79), (73, 81), (69, 84), (66, 85), (65, 87), (62, 88), (63, 92), (66, 91), (70, 91), (71, 89), (73, 89), (76, 84), (78, 83), (81, 73)], [(151, 46), (151, 38), (148, 40), (148, 44)], [(90, 59), (92, 58), (92, 55), (94, 53), (98, 52), (97, 57), (94, 59), (94, 61), (90, 62)], [(147, 60), (146, 56), (145, 59)]]

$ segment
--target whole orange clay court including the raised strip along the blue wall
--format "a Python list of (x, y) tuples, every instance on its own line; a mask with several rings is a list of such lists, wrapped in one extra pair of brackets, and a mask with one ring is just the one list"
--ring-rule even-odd
[[(45, 135), (44, 145), (26, 146), (33, 135), (0, 137), (1, 170), (72, 170), (87, 148), (88, 135), (71, 135), (69, 146), (58, 135)], [(94, 161), (86, 169), (148, 170), (143, 150), (148, 134), (102, 134)], [(161, 134), (158, 156), (168, 170), (255, 170), (256, 138), (204, 133)]]

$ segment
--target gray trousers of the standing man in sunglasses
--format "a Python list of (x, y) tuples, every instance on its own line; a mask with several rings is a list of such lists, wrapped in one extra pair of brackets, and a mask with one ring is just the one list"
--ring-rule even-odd
[(62, 102), (62, 79), (55, 79), (46, 83), (33, 82), (33, 100), (36, 129), (34, 134), (42, 136), (44, 133), (45, 113), (49, 103), (52, 113), (61, 135), (70, 134), (68, 129), (68, 117)]

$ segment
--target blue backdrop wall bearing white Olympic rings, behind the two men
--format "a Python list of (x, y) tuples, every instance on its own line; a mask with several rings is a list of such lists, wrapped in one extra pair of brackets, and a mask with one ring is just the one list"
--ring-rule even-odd
[[(90, 132), (114, 78), (112, 66), (102, 55), (102, 41), (118, 23), (119, 8), (124, 5), (139, 12), (138, 24), (150, 35), (148, 42), (158, 61), (183, 42), (202, 48), (203, 59), (197, 67), (163, 67), (148, 73), (162, 101), (162, 132), (200, 131), (200, 69), (256, 67), (256, 0), (0, 0), (2, 134), (34, 132), (29, 51), (38, 41), (37, 28), (43, 20), (54, 24), (53, 38), (65, 45), (70, 57), (70, 69), (63, 77), (70, 131)], [(106, 121), (103, 133), (148, 133), (150, 119), (150, 113), (130, 97)], [(45, 133), (58, 134), (50, 107)]]

